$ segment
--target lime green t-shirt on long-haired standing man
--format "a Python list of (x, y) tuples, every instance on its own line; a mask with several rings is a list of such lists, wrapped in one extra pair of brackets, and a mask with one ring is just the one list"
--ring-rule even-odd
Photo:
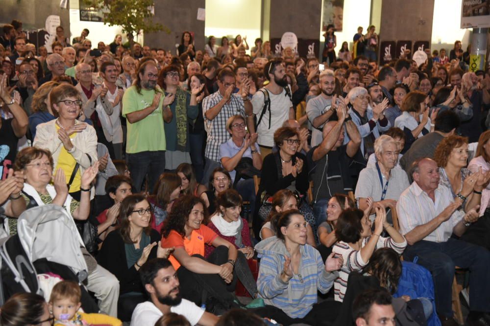
[[(141, 90), (135, 86), (129, 87), (123, 96), (123, 117), (126, 114), (145, 109), (153, 102), (154, 90)], [(158, 109), (151, 112), (146, 118), (135, 123), (127, 121), (126, 152), (139, 153), (145, 151), (165, 151), (167, 142), (163, 127), (162, 104), (165, 95), (160, 98)]]

